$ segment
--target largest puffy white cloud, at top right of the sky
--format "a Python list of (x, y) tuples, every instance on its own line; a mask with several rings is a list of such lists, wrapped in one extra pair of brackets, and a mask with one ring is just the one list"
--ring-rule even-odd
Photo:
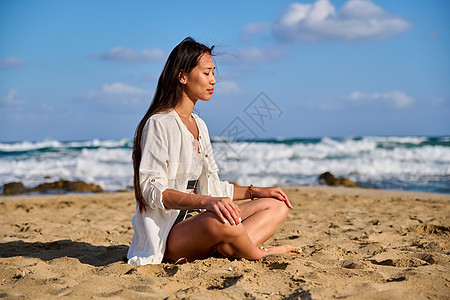
[(293, 3), (273, 26), (286, 41), (377, 40), (407, 31), (411, 25), (370, 0), (349, 0), (336, 12), (329, 0)]

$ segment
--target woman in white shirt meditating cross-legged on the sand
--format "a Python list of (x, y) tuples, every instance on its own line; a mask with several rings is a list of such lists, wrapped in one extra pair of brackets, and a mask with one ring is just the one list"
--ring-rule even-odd
[[(279, 187), (220, 181), (206, 124), (192, 113), (214, 92), (212, 48), (186, 38), (170, 53), (134, 140), (132, 265), (192, 261), (218, 254), (260, 259), (299, 251), (257, 247), (292, 208)], [(236, 205), (234, 200), (253, 201)]]

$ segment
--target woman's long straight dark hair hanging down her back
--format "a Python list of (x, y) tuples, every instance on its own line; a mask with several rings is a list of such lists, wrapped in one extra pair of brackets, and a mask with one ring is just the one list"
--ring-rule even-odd
[(212, 55), (214, 46), (207, 47), (187, 37), (170, 53), (164, 69), (159, 76), (158, 85), (152, 103), (139, 122), (134, 134), (133, 168), (134, 168), (134, 194), (139, 206), (139, 212), (144, 212), (147, 206), (140, 187), (139, 166), (141, 164), (141, 138), (147, 120), (154, 114), (173, 109), (181, 101), (180, 74), (189, 74), (198, 65), (200, 56), (204, 53)]

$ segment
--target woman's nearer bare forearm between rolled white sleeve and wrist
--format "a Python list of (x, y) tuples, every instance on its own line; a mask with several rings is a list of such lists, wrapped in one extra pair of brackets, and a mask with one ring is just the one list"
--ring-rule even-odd
[(163, 192), (162, 202), (168, 209), (204, 209), (210, 196), (183, 193), (173, 189)]

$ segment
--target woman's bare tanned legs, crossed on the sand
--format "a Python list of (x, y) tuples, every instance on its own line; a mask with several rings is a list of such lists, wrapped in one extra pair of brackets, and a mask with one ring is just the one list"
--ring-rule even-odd
[[(170, 232), (165, 258), (188, 261), (208, 256), (214, 246), (222, 255), (260, 259), (266, 251), (260, 245), (269, 239), (286, 219), (284, 202), (265, 198), (241, 204), (242, 223), (223, 224), (212, 212), (204, 212), (178, 223)], [(288, 253), (297, 248), (285, 245), (269, 248), (271, 254)]]

